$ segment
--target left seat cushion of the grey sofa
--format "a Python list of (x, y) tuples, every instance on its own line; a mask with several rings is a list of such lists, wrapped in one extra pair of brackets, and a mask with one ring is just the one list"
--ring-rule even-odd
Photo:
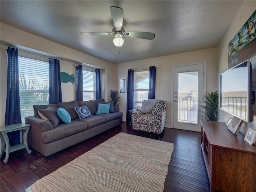
[(70, 124), (60, 123), (56, 128), (42, 132), (41, 141), (49, 143), (85, 130), (87, 130), (87, 125), (83, 122), (71, 121)]

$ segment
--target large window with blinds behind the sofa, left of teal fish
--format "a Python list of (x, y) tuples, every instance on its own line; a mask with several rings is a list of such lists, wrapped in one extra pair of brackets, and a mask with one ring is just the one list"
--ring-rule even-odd
[(33, 105), (49, 104), (49, 63), (19, 56), (21, 120), (33, 116)]

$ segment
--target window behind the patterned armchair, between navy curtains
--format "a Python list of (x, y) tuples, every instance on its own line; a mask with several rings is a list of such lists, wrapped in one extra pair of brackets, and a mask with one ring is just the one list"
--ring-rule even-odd
[(142, 101), (148, 100), (149, 70), (134, 71), (133, 108), (142, 106)]

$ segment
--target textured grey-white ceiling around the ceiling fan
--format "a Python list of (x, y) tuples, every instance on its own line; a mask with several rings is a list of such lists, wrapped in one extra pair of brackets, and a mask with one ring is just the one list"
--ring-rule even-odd
[[(1, 1), (1, 22), (73, 48), (121, 63), (217, 47), (244, 1)], [(117, 51), (110, 6), (124, 10), (126, 32), (154, 32), (153, 40), (125, 36)], [(120, 54), (119, 54), (120, 52)]]

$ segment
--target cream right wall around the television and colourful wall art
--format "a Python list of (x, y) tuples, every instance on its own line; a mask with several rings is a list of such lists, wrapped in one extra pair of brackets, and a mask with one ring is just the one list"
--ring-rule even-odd
[[(230, 28), (226, 32), (225, 36), (223, 37), (222, 41), (220, 42), (218, 46), (218, 69), (217, 69), (217, 84), (218, 87), (219, 84), (219, 74), (226, 71), (228, 69), (228, 44), (229, 42), (234, 38), (236, 33), (242, 28), (244, 23), (250, 18), (252, 13), (256, 10), (256, 1), (245, 1), (244, 5), (238, 12), (237, 16), (234, 18), (234, 21), (230, 25)], [(256, 69), (253, 69), (256, 70)], [(253, 77), (255, 79), (255, 77)], [(256, 82), (254, 83), (254, 87)], [(248, 124), (244, 123), (244, 127), (251, 127), (256, 129), (256, 106), (253, 106), (254, 110), (254, 121), (250, 122)], [(220, 122), (226, 122), (228, 120), (228, 117), (231, 116), (230, 114), (220, 110), (219, 113), (219, 120)], [(244, 131), (246, 129), (242, 129), (242, 134), (244, 134)]]

